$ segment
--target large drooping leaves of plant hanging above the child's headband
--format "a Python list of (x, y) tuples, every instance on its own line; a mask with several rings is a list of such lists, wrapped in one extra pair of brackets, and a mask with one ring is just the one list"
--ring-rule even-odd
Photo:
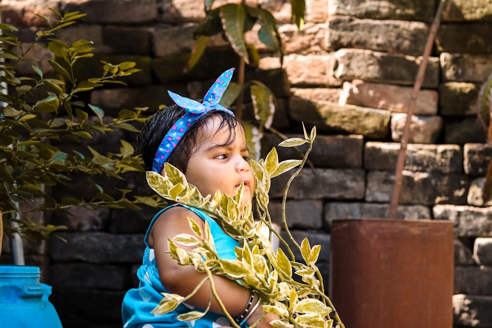
[[(304, 25), (305, 0), (291, 0), (292, 21), (295, 21), (299, 29)], [(200, 60), (210, 38), (220, 34), (239, 55), (236, 74), (238, 83), (230, 83), (224, 94), (221, 104), (227, 108), (236, 104), (235, 114), (239, 119), (243, 118), (244, 90), (249, 87), (253, 104), (254, 116), (257, 124), (244, 122), (248, 139), (259, 148), (259, 139), (264, 129), (270, 129), (276, 108), (276, 99), (272, 91), (260, 81), (252, 80), (245, 84), (245, 64), (258, 66), (260, 55), (253, 44), (248, 44), (245, 39), (246, 32), (252, 32), (258, 25), (258, 39), (273, 53), (279, 54), (280, 62), (283, 58), (282, 40), (277, 30), (277, 20), (261, 6), (253, 7), (241, 3), (225, 3), (213, 8), (214, 0), (205, 1), (206, 17), (200, 22), (194, 31), (195, 46), (188, 60), (186, 70), (190, 70)], [(256, 135), (256, 137), (254, 137)], [(253, 154), (259, 155), (259, 151)]]

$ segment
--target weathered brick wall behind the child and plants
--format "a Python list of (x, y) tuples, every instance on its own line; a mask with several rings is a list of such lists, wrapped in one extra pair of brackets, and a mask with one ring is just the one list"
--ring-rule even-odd
[[(285, 57), (280, 67), (278, 57), (249, 35), (262, 60), (259, 68), (246, 68), (246, 79), (273, 89), (277, 130), (302, 133), (301, 121), (317, 127), (312, 168), (291, 186), (287, 211), (296, 239), (308, 237), (311, 244), (322, 245), (318, 264), (328, 281), (331, 222), (386, 215), (398, 142), (437, 0), (307, 0), (301, 31), (290, 24), (288, 1), (257, 2), (277, 18)], [(101, 59), (137, 62), (142, 71), (126, 80), (128, 87), (87, 95), (108, 116), (129, 107), (155, 111), (171, 103), (167, 89), (199, 97), (215, 76), (238, 62), (215, 38), (198, 66), (182, 73), (193, 28), (204, 17), (203, 1), (1, 0), (0, 5), (2, 22), (24, 26), (20, 35), (25, 41), (42, 23), (32, 12), (54, 17), (47, 10), (53, 7), (87, 13), (57, 35), (65, 42), (94, 41), (94, 58), (78, 72), (83, 76), (92, 74)], [(475, 115), (478, 89), (492, 71), (491, 32), (490, 0), (448, 0), (412, 118), (398, 210), (404, 219), (455, 223), (455, 327), (492, 327), (492, 207), (481, 201), (492, 151)], [(36, 56), (47, 55), (39, 50)], [(120, 138), (134, 141), (135, 136), (95, 138), (93, 146), (111, 150)], [(264, 149), (278, 142), (267, 134)], [(281, 158), (296, 156), (278, 150)], [(273, 181), (274, 217), (286, 179)], [(98, 183), (105, 190), (149, 191), (142, 175)], [(89, 188), (75, 178), (70, 192), (89, 195)], [(55, 196), (65, 192), (53, 190)], [(26, 245), (28, 264), (41, 266), (43, 281), (54, 288), (51, 300), (64, 327), (121, 327), (123, 294), (135, 285), (142, 240), (155, 211), (55, 213), (52, 223), (68, 227), (59, 234), (67, 242), (53, 238)], [(9, 259), (8, 244), (4, 247), (2, 262)]]

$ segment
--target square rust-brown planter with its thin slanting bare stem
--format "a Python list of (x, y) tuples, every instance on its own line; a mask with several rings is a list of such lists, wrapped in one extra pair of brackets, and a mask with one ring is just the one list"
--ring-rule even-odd
[(412, 115), (446, 0), (439, 1), (400, 138), (393, 194), (385, 219), (332, 223), (330, 294), (351, 327), (452, 326), (454, 228), (451, 221), (401, 220), (397, 207)]

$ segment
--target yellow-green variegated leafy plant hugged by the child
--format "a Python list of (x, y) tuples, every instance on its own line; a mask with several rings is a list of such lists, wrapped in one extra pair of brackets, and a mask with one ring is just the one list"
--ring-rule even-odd
[[(195, 235), (181, 234), (170, 239), (168, 241), (169, 253), (180, 265), (193, 265), (198, 271), (207, 273), (207, 277), (188, 296), (164, 293), (164, 298), (153, 313), (164, 314), (174, 310), (180, 303), (193, 296), (196, 290), (208, 280), (213, 293), (211, 300), (215, 298), (231, 323), (239, 328), (232, 316), (227, 313), (215, 290), (213, 274), (219, 274), (240, 281), (243, 286), (252, 289), (266, 304), (263, 307), (265, 311), (279, 316), (280, 319), (272, 323), (274, 327), (331, 328), (334, 322), (336, 327), (344, 327), (332, 302), (324, 293), (323, 279), (316, 266), (320, 245), (311, 247), (307, 239), (304, 239), (299, 245), (292, 238), (286, 223), (287, 192), (290, 183), (306, 163), (307, 155), (312, 149), (312, 143), (316, 136), (316, 129), (313, 128), (309, 136), (304, 129), (304, 134), (305, 139), (291, 138), (279, 144), (282, 147), (296, 147), (308, 143), (309, 148), (303, 160), (286, 160), (279, 163), (275, 148), (270, 151), (265, 160), (260, 159), (258, 162), (251, 160), (251, 168), (256, 177), (255, 194), (259, 222), (253, 220), (250, 201), (243, 208), (240, 207), (243, 185), (233, 197), (221, 194), (217, 190), (213, 197), (208, 195), (204, 198), (195, 186), (187, 183), (184, 174), (168, 163), (164, 164), (164, 176), (147, 172), (149, 185), (159, 195), (205, 211), (213, 216), (224, 230), (231, 237), (237, 239), (242, 246), (235, 249), (237, 260), (219, 259), (208, 225), (205, 227), (205, 233), (202, 234), (196, 223), (189, 219), (190, 227)], [(285, 232), (294, 245), (299, 248), (304, 262), (296, 261), (287, 242), (273, 228), (268, 212), (268, 192), (271, 179), (296, 166), (298, 169), (288, 180), (285, 188), (282, 220)], [(270, 238), (261, 232), (261, 228), (265, 225), (271, 231)], [(286, 246), (288, 254), (285, 254), (280, 248), (275, 253), (271, 244), (272, 234), (275, 234)], [(179, 247), (180, 244), (195, 246), (195, 248), (192, 251), (186, 251)], [(302, 281), (294, 279), (293, 274), (301, 277)], [(205, 312), (207, 311), (208, 309), (205, 310)], [(333, 319), (330, 318), (330, 313)], [(204, 314), (199, 311), (191, 311), (180, 315), (178, 319), (183, 321), (196, 320)]]

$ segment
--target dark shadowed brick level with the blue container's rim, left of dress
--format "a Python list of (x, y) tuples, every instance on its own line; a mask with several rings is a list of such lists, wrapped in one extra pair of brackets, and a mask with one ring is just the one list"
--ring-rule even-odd
[(122, 290), (130, 282), (128, 269), (87, 263), (52, 264), (50, 285), (55, 289), (88, 288)]

